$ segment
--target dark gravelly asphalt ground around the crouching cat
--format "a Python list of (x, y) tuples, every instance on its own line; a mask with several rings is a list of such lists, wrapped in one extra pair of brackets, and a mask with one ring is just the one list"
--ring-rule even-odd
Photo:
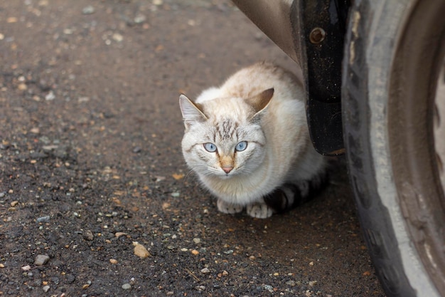
[(0, 296), (384, 296), (342, 159), (269, 219), (186, 168), (178, 94), (257, 61), (223, 0), (1, 1)]

